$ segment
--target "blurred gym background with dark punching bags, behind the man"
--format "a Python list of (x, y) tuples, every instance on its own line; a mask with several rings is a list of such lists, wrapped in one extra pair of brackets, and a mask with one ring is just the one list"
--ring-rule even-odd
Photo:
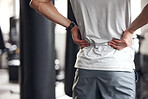
[[(0, 99), (72, 99), (78, 46), (65, 28), (29, 7), (30, 0), (0, 0)], [(132, 19), (148, 0), (132, 0)], [(69, 0), (53, 0), (75, 21)], [(135, 9), (136, 8), (136, 9)], [(148, 99), (148, 25), (134, 35), (137, 99)]]

